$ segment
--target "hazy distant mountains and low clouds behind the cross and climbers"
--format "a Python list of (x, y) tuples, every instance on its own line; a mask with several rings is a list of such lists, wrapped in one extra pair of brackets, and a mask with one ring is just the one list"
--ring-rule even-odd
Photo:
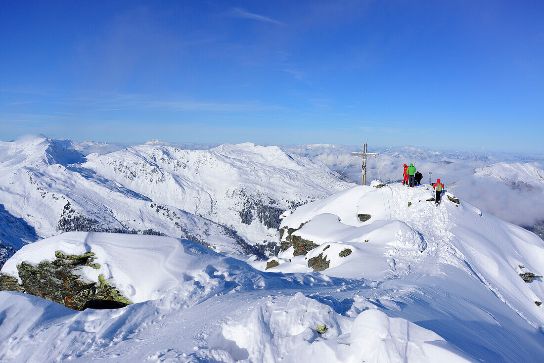
[[(346, 180), (359, 182), (361, 160), (351, 152), (362, 151), (349, 145), (284, 146), (290, 153), (326, 164)], [(423, 173), (423, 182), (440, 178), (456, 194), (508, 222), (527, 227), (544, 238), (542, 177), (544, 156), (531, 153), (467, 150), (433, 150), (412, 146), (371, 147), (378, 152), (370, 159), (367, 178), (401, 180), (404, 163), (414, 163)]]

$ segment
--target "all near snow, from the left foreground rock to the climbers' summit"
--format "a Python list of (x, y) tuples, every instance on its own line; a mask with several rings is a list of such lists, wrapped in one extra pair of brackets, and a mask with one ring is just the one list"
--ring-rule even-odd
[[(28, 245), (2, 273), (55, 250), (95, 251), (101, 270), (82, 275), (102, 273), (134, 304), (77, 312), (0, 292), (0, 360), (542, 361), (544, 288), (519, 275), (544, 271), (541, 239), (448, 192), (436, 208), (424, 186), (376, 186), (285, 216), (286, 249), (266, 270), (158, 236), (65, 233)], [(316, 247), (295, 255), (302, 240)], [(318, 255), (329, 266), (316, 273)]]

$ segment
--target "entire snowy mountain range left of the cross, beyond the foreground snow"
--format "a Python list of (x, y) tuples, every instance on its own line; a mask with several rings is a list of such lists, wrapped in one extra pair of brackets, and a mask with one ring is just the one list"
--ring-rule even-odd
[(247, 244), (264, 243), (270, 253), (283, 211), (350, 185), (274, 146), (151, 143), (86, 157), (72, 146), (44, 136), (0, 143), (4, 245), (109, 230), (181, 236), (224, 253), (262, 254)]

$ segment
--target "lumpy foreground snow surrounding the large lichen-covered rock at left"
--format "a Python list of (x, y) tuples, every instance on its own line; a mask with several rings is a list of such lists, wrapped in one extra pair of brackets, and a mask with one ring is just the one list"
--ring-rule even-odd
[[(16, 275), (18, 263), (52, 260), (55, 250), (94, 251), (101, 272), (108, 270), (113, 284), (141, 302), (76, 312), (0, 292), (3, 362), (473, 361), (436, 333), (387, 316), (368, 299), (335, 302), (311, 294), (334, 293), (346, 282), (353, 293), (354, 286), (364, 286), (361, 281), (259, 272), (190, 241), (64, 233), (24, 247), (2, 272)], [(89, 273), (98, 272), (89, 268), (82, 275)], [(317, 325), (327, 327), (323, 335)]]

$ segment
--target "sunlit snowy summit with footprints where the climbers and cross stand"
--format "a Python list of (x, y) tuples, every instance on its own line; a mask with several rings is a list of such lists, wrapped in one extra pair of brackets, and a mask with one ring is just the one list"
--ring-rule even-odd
[(544, 299), (544, 285), (519, 276), (544, 273), (542, 239), (447, 190), (438, 207), (432, 197), (429, 186), (393, 183), (357, 186), (300, 206), (282, 221), (284, 251), (269, 270), (306, 272), (319, 262), (327, 275), (382, 280), (432, 275), (448, 265), (482, 281), (534, 327), (544, 324), (534, 303)]

